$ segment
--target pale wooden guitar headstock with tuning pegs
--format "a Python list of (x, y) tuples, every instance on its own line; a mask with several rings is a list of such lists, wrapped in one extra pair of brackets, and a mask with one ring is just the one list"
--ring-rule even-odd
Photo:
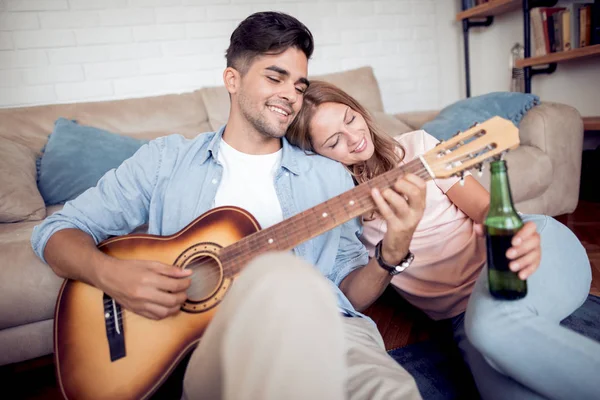
[(517, 127), (502, 117), (493, 117), (440, 142), (423, 154), (421, 161), (432, 178), (449, 178), (481, 167), (484, 161), (517, 148), (519, 143)]

